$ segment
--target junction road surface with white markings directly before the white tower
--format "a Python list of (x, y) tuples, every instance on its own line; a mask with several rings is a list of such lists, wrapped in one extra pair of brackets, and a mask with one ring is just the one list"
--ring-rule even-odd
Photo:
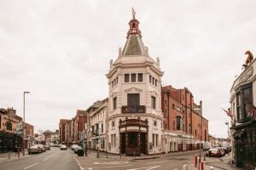
[(183, 165), (193, 161), (194, 156), (195, 151), (157, 156), (150, 159), (141, 159), (140, 157), (134, 159), (127, 156), (123, 156), (122, 159), (119, 156), (98, 159), (93, 154), (88, 157), (74, 155), (74, 158), (80, 164), (81, 169), (84, 170), (179, 170), (183, 169)]

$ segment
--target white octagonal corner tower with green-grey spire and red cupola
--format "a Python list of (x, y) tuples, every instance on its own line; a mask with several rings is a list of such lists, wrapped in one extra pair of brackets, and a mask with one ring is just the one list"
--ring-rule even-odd
[(133, 14), (125, 47), (108, 74), (108, 152), (127, 156), (162, 152), (160, 59), (144, 46)]

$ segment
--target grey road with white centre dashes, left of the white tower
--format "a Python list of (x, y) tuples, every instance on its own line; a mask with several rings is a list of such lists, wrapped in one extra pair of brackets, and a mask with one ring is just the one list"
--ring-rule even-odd
[(41, 154), (0, 163), (1, 170), (80, 170), (71, 150), (51, 148)]

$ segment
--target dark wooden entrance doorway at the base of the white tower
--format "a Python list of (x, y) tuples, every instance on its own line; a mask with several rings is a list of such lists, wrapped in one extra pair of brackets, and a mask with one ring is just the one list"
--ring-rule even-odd
[(141, 156), (141, 154), (147, 154), (147, 133), (126, 132), (120, 134), (122, 154), (126, 156)]

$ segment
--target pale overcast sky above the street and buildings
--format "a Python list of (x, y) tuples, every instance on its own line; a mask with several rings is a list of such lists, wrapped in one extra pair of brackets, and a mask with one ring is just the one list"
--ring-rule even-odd
[(256, 1), (0, 0), (0, 108), (55, 130), (108, 97), (109, 60), (125, 45), (131, 8), (149, 55), (160, 57), (163, 85), (203, 101), (209, 131), (227, 137), (220, 108), (249, 49), (256, 54)]

